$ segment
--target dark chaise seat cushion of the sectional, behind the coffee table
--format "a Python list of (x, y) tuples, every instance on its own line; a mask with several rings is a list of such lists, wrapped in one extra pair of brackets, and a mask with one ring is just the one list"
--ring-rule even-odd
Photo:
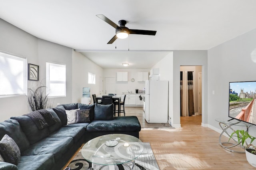
[(88, 132), (140, 131), (140, 122), (136, 116), (114, 117), (111, 121), (94, 120), (87, 126)]

